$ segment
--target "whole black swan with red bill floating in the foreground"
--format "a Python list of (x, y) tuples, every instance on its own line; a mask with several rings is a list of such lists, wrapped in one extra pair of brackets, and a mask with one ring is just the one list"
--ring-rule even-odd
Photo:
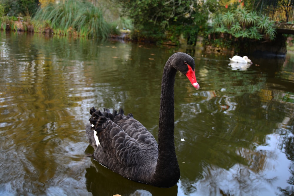
[(158, 144), (150, 132), (129, 113), (91, 108), (86, 134), (95, 149), (93, 158), (130, 180), (156, 187), (172, 187), (180, 178), (174, 144), (174, 81), (176, 72), (188, 77), (198, 90), (194, 59), (174, 53), (166, 62), (161, 82)]

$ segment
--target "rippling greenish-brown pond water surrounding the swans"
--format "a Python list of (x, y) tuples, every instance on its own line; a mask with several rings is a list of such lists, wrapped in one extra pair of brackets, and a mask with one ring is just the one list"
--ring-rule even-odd
[[(142, 43), (0, 34), (0, 195), (294, 194), (294, 54), (228, 57)], [(118, 109), (157, 139), (163, 66), (196, 63), (196, 91), (177, 74), (168, 189), (127, 180), (86, 155), (89, 110)]]

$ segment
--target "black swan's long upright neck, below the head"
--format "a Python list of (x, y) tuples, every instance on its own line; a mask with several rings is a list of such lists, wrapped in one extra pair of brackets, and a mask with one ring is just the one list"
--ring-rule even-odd
[[(174, 143), (174, 81), (177, 70), (166, 64), (161, 82), (158, 160), (155, 177), (176, 184), (180, 176)], [(173, 181), (173, 179), (175, 179)]]

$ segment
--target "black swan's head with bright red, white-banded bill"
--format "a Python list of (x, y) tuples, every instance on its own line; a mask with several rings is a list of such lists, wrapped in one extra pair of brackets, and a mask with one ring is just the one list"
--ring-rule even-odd
[(200, 86), (195, 76), (194, 59), (190, 55), (183, 52), (174, 53), (170, 57), (170, 59), (172, 61), (174, 68), (176, 68), (178, 71), (182, 72), (185, 76), (187, 76), (191, 84), (196, 88), (196, 90), (198, 90)]

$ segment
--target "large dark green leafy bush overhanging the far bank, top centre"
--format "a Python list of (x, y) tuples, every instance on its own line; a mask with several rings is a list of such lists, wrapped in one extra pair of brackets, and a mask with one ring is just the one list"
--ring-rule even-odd
[(206, 25), (211, 2), (216, 0), (116, 0), (124, 16), (133, 21), (133, 38), (177, 42), (183, 35), (195, 44), (199, 29)]

